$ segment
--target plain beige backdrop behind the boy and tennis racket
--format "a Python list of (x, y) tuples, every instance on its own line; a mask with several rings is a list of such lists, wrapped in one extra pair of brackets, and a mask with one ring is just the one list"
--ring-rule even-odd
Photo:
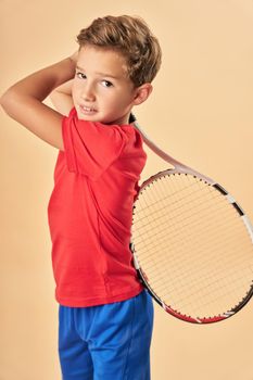
[[(136, 109), (147, 132), (253, 219), (252, 0), (0, 0), (1, 92), (74, 52), (79, 29), (106, 14), (141, 15), (161, 41), (154, 92)], [(58, 151), (0, 118), (0, 380), (60, 380), (47, 224)], [(143, 177), (166, 167), (147, 152)], [(253, 380), (253, 303), (204, 327), (155, 305), (151, 355), (153, 380)]]

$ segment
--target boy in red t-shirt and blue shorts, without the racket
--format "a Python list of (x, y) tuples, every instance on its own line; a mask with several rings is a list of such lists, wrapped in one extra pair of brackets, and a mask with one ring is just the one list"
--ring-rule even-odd
[[(63, 379), (149, 380), (153, 305), (129, 250), (147, 155), (129, 123), (152, 91), (161, 49), (130, 16), (97, 18), (77, 41), (77, 52), (16, 83), (1, 105), (60, 150), (48, 217)], [(50, 93), (60, 112), (42, 103)]]

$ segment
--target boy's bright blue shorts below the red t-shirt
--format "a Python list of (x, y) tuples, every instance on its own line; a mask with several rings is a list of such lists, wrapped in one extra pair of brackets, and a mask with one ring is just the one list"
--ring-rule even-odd
[(149, 380), (153, 303), (147, 290), (123, 302), (59, 309), (63, 380)]

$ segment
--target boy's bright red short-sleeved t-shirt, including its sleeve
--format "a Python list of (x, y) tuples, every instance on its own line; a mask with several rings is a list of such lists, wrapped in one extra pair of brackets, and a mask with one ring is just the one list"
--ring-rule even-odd
[(147, 154), (131, 125), (62, 122), (64, 151), (48, 204), (56, 301), (85, 307), (135, 296), (143, 287), (129, 250), (132, 203)]

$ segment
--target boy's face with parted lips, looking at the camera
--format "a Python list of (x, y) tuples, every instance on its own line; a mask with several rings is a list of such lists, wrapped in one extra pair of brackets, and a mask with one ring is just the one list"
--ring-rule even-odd
[(137, 91), (122, 54), (92, 46), (80, 49), (72, 89), (79, 119), (128, 124)]

